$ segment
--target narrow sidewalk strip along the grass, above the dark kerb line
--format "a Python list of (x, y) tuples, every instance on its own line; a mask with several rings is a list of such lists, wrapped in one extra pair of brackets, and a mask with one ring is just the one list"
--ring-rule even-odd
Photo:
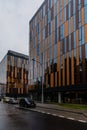
[(65, 107), (62, 107), (62, 106), (59, 106), (59, 105), (41, 104), (41, 103), (37, 103), (37, 107), (82, 114), (83, 116), (85, 116), (87, 118), (87, 110), (71, 109), (71, 108), (65, 108)]

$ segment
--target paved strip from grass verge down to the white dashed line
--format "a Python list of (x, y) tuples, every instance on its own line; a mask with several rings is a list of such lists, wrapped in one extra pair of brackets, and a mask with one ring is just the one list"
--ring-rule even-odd
[(25, 108), (25, 107), (19, 107), (18, 105), (15, 107), (18, 109), (44, 113), (59, 118), (79, 121), (81, 123), (87, 123), (87, 110), (65, 108), (58, 104), (55, 105), (55, 104), (46, 104), (46, 103), (44, 104), (36, 103), (36, 108)]

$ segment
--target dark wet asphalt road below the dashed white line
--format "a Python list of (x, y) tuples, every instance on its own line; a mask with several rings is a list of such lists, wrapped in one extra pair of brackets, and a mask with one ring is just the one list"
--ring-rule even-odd
[(87, 130), (87, 124), (0, 103), (0, 130)]

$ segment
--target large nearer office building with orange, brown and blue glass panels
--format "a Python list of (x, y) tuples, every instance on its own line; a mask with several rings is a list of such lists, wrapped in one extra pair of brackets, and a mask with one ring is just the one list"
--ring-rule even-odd
[(45, 0), (29, 25), (31, 95), (87, 103), (87, 0)]

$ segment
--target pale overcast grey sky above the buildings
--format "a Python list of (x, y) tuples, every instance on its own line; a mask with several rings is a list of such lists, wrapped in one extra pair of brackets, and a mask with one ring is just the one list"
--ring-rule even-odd
[(28, 54), (29, 20), (44, 0), (0, 0), (0, 61), (8, 50)]

